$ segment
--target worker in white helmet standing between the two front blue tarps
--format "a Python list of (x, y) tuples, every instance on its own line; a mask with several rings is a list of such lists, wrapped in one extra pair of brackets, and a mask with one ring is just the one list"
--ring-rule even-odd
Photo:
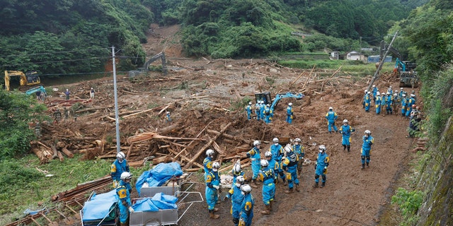
[(120, 226), (128, 225), (129, 214), (134, 213), (132, 203), (130, 201), (130, 192), (132, 187), (130, 186), (130, 179), (132, 178), (129, 172), (122, 172), (120, 176), (120, 184), (116, 187), (116, 194), (118, 198), (118, 208), (120, 208)]

